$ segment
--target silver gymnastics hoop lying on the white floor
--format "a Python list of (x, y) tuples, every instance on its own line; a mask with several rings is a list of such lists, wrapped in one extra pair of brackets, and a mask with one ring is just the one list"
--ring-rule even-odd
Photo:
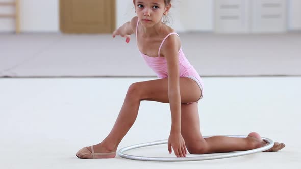
[[(235, 138), (246, 138), (247, 136), (244, 135), (224, 135), (227, 137), (235, 137)], [(204, 138), (212, 137), (212, 136), (203, 136)], [(166, 144), (168, 143), (168, 140), (159, 140), (155, 142), (148, 142), (148, 143), (141, 143), (137, 145), (132, 145), (132, 146), (127, 146), (118, 151), (118, 155), (122, 158), (127, 158), (131, 160), (140, 160), (140, 161), (164, 161), (164, 162), (172, 162), (172, 161), (203, 161), (203, 160), (214, 160), (214, 159), (222, 159), (222, 158), (230, 158), (230, 157), (238, 157), (238, 156), (243, 156), (243, 155), (248, 155), (248, 154), (254, 154), (254, 153), (259, 153), (265, 150), (268, 150), (273, 147), (274, 142), (273, 140), (269, 138), (264, 138), (262, 139), (266, 140), (268, 144), (266, 146), (257, 148), (257, 149), (252, 149), (252, 150), (247, 150), (247, 151), (239, 151), (239, 152), (233, 152), (233, 153), (227, 153), (227, 154), (218, 154), (218, 155), (208, 155), (208, 156), (197, 156), (197, 157), (185, 157), (185, 158), (177, 158), (177, 157), (144, 157), (144, 156), (134, 156), (134, 155), (129, 155), (129, 154), (124, 154), (124, 152), (132, 150), (132, 149), (137, 149), (141, 147), (147, 147), (147, 146), (154, 146), (154, 145), (161, 145), (161, 144)]]

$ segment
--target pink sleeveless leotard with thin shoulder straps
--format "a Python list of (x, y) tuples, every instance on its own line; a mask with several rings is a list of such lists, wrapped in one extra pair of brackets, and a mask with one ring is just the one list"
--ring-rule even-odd
[[(137, 43), (138, 43), (138, 39), (137, 39), (138, 25), (139, 25), (139, 20), (138, 20), (137, 26), (136, 26), (136, 41), (137, 41)], [(166, 61), (165, 57), (160, 57), (160, 50), (161, 50), (161, 47), (162, 47), (164, 41), (172, 34), (175, 34), (175, 35), (179, 36), (175, 32), (172, 32), (172, 33), (168, 34), (163, 39), (163, 41), (162, 41), (162, 43), (159, 47), (158, 57), (149, 57), (148, 55), (145, 55), (145, 54), (141, 53), (139, 48), (138, 48), (138, 50), (139, 50), (141, 56), (143, 57), (145, 63), (157, 74), (158, 78), (167, 78), (168, 77), (167, 61)], [(192, 80), (194, 80), (197, 83), (200, 90), (202, 91), (202, 96), (200, 96), (200, 98), (199, 98), (199, 99), (201, 99), (203, 97), (203, 82), (202, 82), (202, 79), (200, 78), (199, 74), (196, 72), (194, 67), (189, 63), (189, 61), (185, 57), (185, 55), (182, 51), (182, 47), (179, 50), (178, 56), (179, 56), (180, 77), (191, 78)]]

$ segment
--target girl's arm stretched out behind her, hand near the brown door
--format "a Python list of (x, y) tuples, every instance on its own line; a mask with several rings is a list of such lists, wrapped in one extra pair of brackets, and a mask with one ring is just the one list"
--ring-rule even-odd
[(116, 35), (120, 35), (121, 37), (126, 38), (126, 42), (129, 43), (131, 39), (131, 34), (133, 34), (135, 31), (135, 24), (137, 23), (138, 17), (135, 16), (130, 22), (124, 23), (121, 27), (119, 27), (117, 30), (113, 32), (113, 38), (115, 38)]

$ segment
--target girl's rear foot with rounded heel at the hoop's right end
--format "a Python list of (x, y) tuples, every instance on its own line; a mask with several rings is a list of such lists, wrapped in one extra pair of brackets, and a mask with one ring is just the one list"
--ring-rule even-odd
[[(247, 138), (253, 140), (253, 144), (255, 144), (255, 148), (260, 148), (260, 147), (263, 147), (268, 144), (268, 142), (263, 140), (261, 138), (261, 136), (256, 132), (249, 133)], [(285, 147), (284, 143), (275, 142), (274, 146), (272, 148), (270, 148), (264, 152), (279, 151), (279, 150), (283, 149), (284, 147)]]

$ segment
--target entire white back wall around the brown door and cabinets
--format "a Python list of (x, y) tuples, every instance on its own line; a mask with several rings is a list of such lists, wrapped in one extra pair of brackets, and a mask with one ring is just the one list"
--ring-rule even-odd
[[(12, 0), (0, 0), (7, 2)], [(289, 29), (301, 30), (301, 1), (289, 0)], [(132, 0), (116, 0), (116, 25), (121, 26), (135, 16)], [(213, 31), (214, 0), (173, 0), (172, 27), (178, 32)], [(1, 7), (0, 13), (13, 12), (13, 8)], [(59, 0), (21, 0), (22, 32), (59, 32)], [(0, 18), (0, 32), (13, 32), (14, 20)]]

